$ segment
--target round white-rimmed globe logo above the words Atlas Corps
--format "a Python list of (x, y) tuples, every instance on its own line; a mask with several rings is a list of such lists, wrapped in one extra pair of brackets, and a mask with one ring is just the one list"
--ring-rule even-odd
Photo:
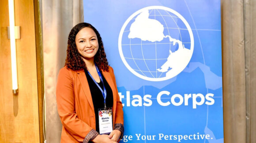
[(164, 81), (181, 73), (194, 50), (188, 22), (168, 7), (133, 13), (120, 31), (118, 49), (124, 65), (141, 79)]

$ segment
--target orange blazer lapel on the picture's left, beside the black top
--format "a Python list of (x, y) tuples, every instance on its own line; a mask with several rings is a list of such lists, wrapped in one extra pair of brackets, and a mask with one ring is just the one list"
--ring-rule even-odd
[(87, 98), (87, 100), (90, 104), (90, 107), (92, 108), (93, 113), (94, 113), (94, 106), (93, 106), (93, 102), (92, 102), (92, 98), (91, 98), (90, 87), (89, 87), (89, 84), (87, 82), (85, 72), (83, 70), (80, 70), (80, 71), (77, 71), (77, 74), (78, 74), (79, 80), (81, 82), (83, 92), (84, 92), (84, 94), (85, 94), (85, 96), (86, 96), (86, 98)]

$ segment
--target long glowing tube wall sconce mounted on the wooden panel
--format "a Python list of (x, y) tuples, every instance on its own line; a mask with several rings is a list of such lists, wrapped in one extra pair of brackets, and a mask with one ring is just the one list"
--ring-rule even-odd
[[(9, 4), (9, 22), (10, 22), (8, 35), (10, 36), (10, 43), (11, 43), (12, 93), (18, 94), (18, 75), (17, 75), (16, 41), (15, 41), (15, 39), (20, 39), (19, 38), (19, 26), (15, 26), (14, 0), (8, 0), (8, 4)], [(17, 34), (15, 34), (15, 33), (17, 33)]]

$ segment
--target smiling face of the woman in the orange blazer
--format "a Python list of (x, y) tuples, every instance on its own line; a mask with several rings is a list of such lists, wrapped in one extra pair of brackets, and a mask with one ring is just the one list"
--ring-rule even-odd
[(98, 39), (93, 29), (85, 27), (75, 36), (75, 45), (83, 60), (93, 60), (98, 51)]

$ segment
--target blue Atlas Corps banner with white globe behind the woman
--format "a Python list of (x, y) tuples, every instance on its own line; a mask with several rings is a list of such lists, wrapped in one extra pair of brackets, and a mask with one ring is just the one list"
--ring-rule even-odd
[(220, 0), (84, 0), (124, 110), (121, 143), (224, 143)]

